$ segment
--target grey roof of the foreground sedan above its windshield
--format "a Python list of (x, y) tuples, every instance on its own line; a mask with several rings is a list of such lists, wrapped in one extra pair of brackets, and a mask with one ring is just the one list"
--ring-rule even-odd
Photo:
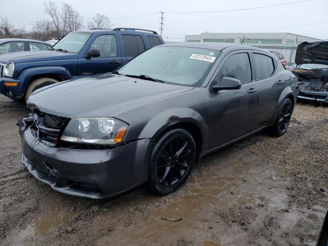
[(216, 43), (216, 42), (176, 42), (176, 43), (170, 43), (161, 46), (190, 47), (190, 48), (200, 48), (200, 49), (209, 49), (209, 50), (218, 50), (218, 51), (222, 51), (223, 49), (229, 47), (237, 47), (238, 49), (251, 48), (253, 50), (263, 51), (263, 49), (259, 49), (249, 45), (239, 45), (234, 43)]

